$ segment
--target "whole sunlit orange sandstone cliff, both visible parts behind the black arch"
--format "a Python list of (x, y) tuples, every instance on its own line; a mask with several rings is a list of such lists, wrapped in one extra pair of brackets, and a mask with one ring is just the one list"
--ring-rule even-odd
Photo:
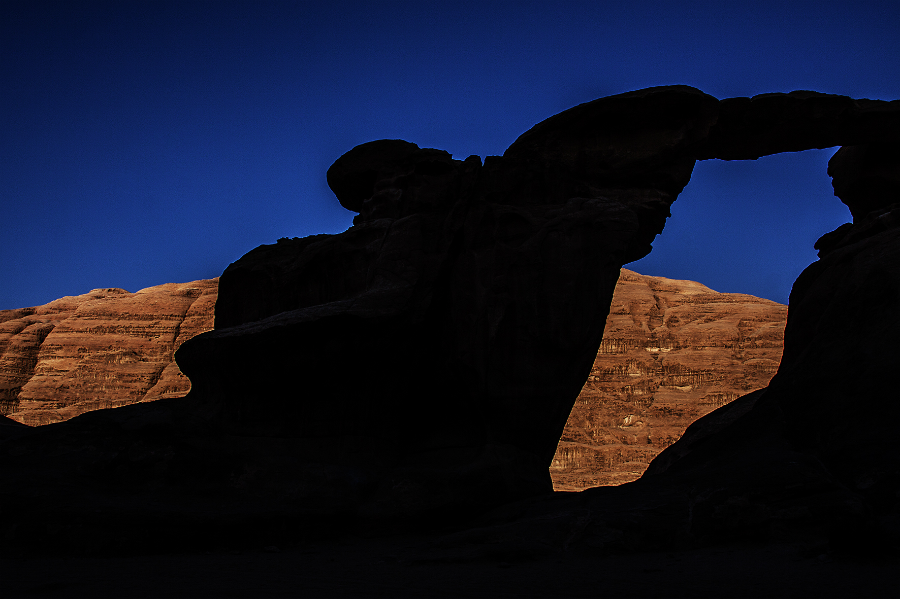
[[(99, 289), (0, 312), (3, 414), (29, 425), (190, 389), (172, 359), (212, 328), (217, 280)], [(787, 306), (626, 269), (566, 424), (557, 490), (638, 478), (691, 422), (778, 369)]]

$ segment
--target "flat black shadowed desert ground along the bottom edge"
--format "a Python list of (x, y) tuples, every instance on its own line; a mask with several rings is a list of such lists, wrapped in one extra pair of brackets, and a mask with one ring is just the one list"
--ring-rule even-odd
[(893, 597), (895, 558), (725, 546), (416, 563), (419, 539), (128, 558), (4, 560), (14, 597)]

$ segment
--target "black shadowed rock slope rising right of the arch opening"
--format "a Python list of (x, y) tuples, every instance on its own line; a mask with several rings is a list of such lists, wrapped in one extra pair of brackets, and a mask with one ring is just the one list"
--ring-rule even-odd
[(700, 418), (635, 482), (510, 505), (426, 550), (447, 559), (735, 540), (896, 550), (900, 204), (843, 230), (794, 284), (767, 388)]

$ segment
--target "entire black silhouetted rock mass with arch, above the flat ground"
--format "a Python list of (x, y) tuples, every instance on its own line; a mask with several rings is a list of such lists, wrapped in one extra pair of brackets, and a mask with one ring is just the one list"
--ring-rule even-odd
[[(443, 526), (529, 496), (494, 515), (509, 521), (501, 541), (460, 542), (641, 549), (869, 526), (896, 493), (885, 383), (896, 352), (881, 341), (894, 338), (893, 212), (826, 239), (830, 253), (795, 286), (770, 387), (698, 421), (653, 474), (549, 494), (547, 466), (600, 344), (599, 307), (620, 266), (650, 251), (695, 159), (898, 129), (898, 103), (719, 102), (671, 86), (581, 104), (483, 165), (401, 140), (353, 148), (328, 177), (355, 226), (229, 266), (215, 330), (177, 354), (187, 398), (9, 434), (5, 542), (158, 549)], [(824, 323), (832, 336), (819, 340)], [(861, 386), (833, 363), (846, 355), (834, 343), (853, 345)], [(867, 416), (849, 419), (862, 398)]]

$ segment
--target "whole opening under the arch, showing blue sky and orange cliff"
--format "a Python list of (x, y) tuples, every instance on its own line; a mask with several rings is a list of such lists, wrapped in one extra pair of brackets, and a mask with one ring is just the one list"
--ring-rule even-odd
[(852, 218), (827, 174), (835, 149), (698, 161), (653, 252), (623, 269), (555, 490), (640, 478), (698, 418), (768, 385), (791, 285)]

